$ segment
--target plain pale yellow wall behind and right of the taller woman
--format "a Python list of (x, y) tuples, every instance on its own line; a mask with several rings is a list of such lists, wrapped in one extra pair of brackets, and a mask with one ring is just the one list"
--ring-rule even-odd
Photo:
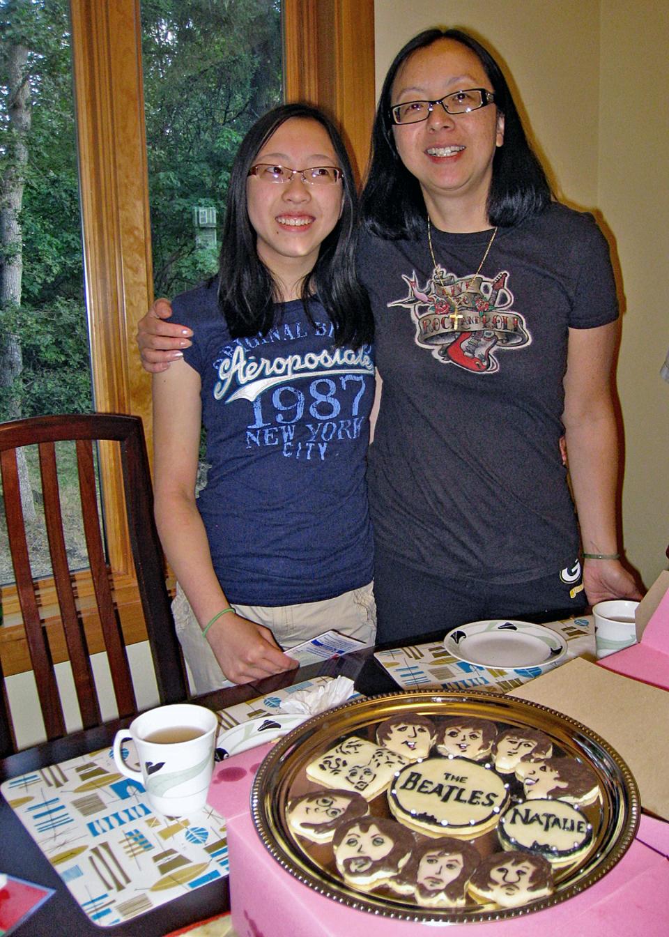
[(625, 309), (623, 542), (650, 586), (669, 543), (669, 384), (659, 376), (669, 349), (666, 0), (376, 0), (375, 17), (377, 93), (421, 30), (455, 26), (482, 38), (558, 197), (603, 221)]

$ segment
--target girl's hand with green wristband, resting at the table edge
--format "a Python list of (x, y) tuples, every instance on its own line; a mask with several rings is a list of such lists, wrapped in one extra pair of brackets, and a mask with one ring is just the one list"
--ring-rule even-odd
[(239, 615), (215, 621), (206, 640), (221, 670), (233, 683), (250, 683), (297, 666), (297, 661), (277, 646), (269, 628)]

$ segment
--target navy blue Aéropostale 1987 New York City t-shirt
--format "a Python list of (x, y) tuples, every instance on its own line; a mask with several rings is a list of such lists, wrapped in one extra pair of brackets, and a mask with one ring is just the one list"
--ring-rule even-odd
[[(374, 399), (371, 346), (335, 349), (312, 300), (275, 307), (264, 337), (230, 338), (216, 283), (178, 296), (201, 376), (206, 487), (198, 507), (232, 603), (330, 599), (373, 574), (365, 456)], [(333, 622), (333, 625), (336, 623)]]

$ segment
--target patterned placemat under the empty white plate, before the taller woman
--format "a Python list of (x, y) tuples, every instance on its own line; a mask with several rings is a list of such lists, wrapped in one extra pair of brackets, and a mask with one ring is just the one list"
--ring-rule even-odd
[(437, 641), (430, 644), (380, 650), (376, 659), (404, 690), (492, 690), (509, 692), (539, 677), (574, 657), (595, 650), (594, 626), (591, 616), (551, 621), (545, 625), (560, 633), (567, 641), (567, 654), (557, 663), (541, 667), (523, 667), (518, 670), (482, 667), (475, 663), (458, 661)]

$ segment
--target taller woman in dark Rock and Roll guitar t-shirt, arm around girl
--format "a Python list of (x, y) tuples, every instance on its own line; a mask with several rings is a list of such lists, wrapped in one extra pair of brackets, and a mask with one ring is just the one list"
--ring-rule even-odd
[[(506, 80), (467, 34), (427, 30), (397, 54), (362, 207), (383, 379), (379, 640), (639, 597), (617, 546), (608, 246), (552, 201)], [(167, 314), (141, 322), (149, 369), (187, 345)]]

